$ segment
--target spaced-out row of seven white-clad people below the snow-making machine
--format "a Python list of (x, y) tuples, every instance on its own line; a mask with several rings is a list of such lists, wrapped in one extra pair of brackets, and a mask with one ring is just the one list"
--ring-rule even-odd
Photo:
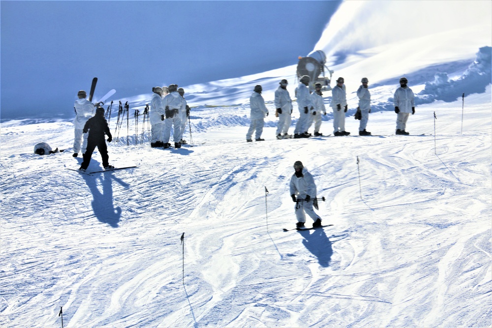
[[(404, 77), (400, 79), (400, 88), (395, 91), (394, 104), (395, 113), (398, 114), (396, 134), (408, 135), (405, 131), (406, 121), (409, 114), (415, 114), (415, 99), (413, 91), (407, 87), (408, 80)], [(348, 110), (347, 92), (345, 89), (345, 81), (342, 77), (337, 79), (337, 85), (332, 89), (332, 100), (330, 107), (333, 109), (333, 134), (335, 136), (348, 136), (350, 132), (345, 131), (345, 113)], [(292, 119), (292, 99), (287, 90), (288, 82), (285, 79), (280, 81), (280, 86), (275, 91), (275, 108), (276, 116), (278, 117), (277, 124), (277, 139), (289, 139), (292, 135), (288, 133), (288, 129)], [(359, 106), (357, 107), (359, 123), (359, 135), (370, 136), (371, 133), (366, 130), (370, 113), (370, 92), (368, 78), (362, 78), (361, 86), (357, 90), (359, 98)], [(321, 127), (321, 114), (326, 115), (326, 108), (321, 93), (322, 85), (316, 83), (314, 91), (310, 92), (309, 76), (305, 75), (299, 80), (299, 85), (295, 89), (297, 98), (297, 107), (299, 109), (299, 119), (294, 129), (294, 138), (309, 138), (308, 129), (314, 123), (314, 136), (322, 136), (319, 132)], [(254, 87), (253, 94), (249, 98), (251, 108), (251, 123), (248, 132), (246, 133), (246, 141), (252, 142), (252, 135), (255, 132), (255, 140), (263, 141), (261, 134), (263, 133), (264, 118), (268, 116), (268, 110), (265, 106), (265, 101), (261, 96), (262, 87), (257, 85)], [(356, 117), (357, 118), (357, 117)]]

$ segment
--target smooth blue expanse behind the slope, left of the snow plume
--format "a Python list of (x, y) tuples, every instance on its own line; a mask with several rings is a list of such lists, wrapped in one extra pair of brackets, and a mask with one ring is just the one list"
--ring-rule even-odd
[(1, 1), (1, 119), (297, 63), (339, 1)]

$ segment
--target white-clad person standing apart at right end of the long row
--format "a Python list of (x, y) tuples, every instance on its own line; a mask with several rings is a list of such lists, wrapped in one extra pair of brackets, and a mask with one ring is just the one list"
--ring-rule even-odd
[(408, 88), (406, 84), (408, 80), (406, 77), (400, 79), (400, 88), (395, 91), (395, 113), (397, 116), (397, 130), (396, 134), (409, 135), (410, 133), (405, 131), (406, 121), (410, 116), (410, 113), (415, 114), (415, 96), (412, 89)]

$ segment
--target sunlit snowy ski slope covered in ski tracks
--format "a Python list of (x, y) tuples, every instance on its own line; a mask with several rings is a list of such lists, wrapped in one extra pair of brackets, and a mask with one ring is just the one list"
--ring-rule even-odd
[[(408, 61), (415, 93), (436, 72), (470, 78), (478, 48), (445, 56), (453, 47)], [(396, 136), (390, 98), (403, 73), (385, 65), (395, 51), (378, 45), (335, 66), (350, 115), (361, 71), (382, 67), (367, 74), (368, 130), (378, 136), (279, 141), (270, 115), (267, 140), (246, 144), (252, 87), (263, 85), (273, 114), (273, 90), (295, 67), (185, 88), (195, 147), (140, 145), (130, 116), (110, 163), (138, 167), (93, 177), (64, 169), (81, 163), (71, 122), (2, 122), (0, 327), (61, 327), (60, 306), (64, 327), (490, 327), (491, 85), (470, 78), (485, 92), (464, 102), (421, 94), (412, 135)], [(150, 96), (129, 100), (133, 113)], [(347, 116), (346, 129), (357, 134), (358, 121)], [(32, 154), (40, 141), (67, 151)], [(332, 227), (282, 231), (296, 222), (296, 160), (326, 198), (318, 213)], [(96, 152), (89, 170), (100, 163)]]

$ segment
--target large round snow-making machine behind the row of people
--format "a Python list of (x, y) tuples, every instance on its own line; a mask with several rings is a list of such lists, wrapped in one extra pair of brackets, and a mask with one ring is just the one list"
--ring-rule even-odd
[[(309, 76), (309, 89), (314, 89), (315, 83), (321, 83), (322, 91), (331, 90), (330, 82), (332, 80), (333, 71), (325, 65), (326, 55), (321, 50), (310, 52), (307, 57), (299, 57), (297, 63), (297, 80), (302, 76)], [(329, 77), (327, 76), (329, 75)]]

